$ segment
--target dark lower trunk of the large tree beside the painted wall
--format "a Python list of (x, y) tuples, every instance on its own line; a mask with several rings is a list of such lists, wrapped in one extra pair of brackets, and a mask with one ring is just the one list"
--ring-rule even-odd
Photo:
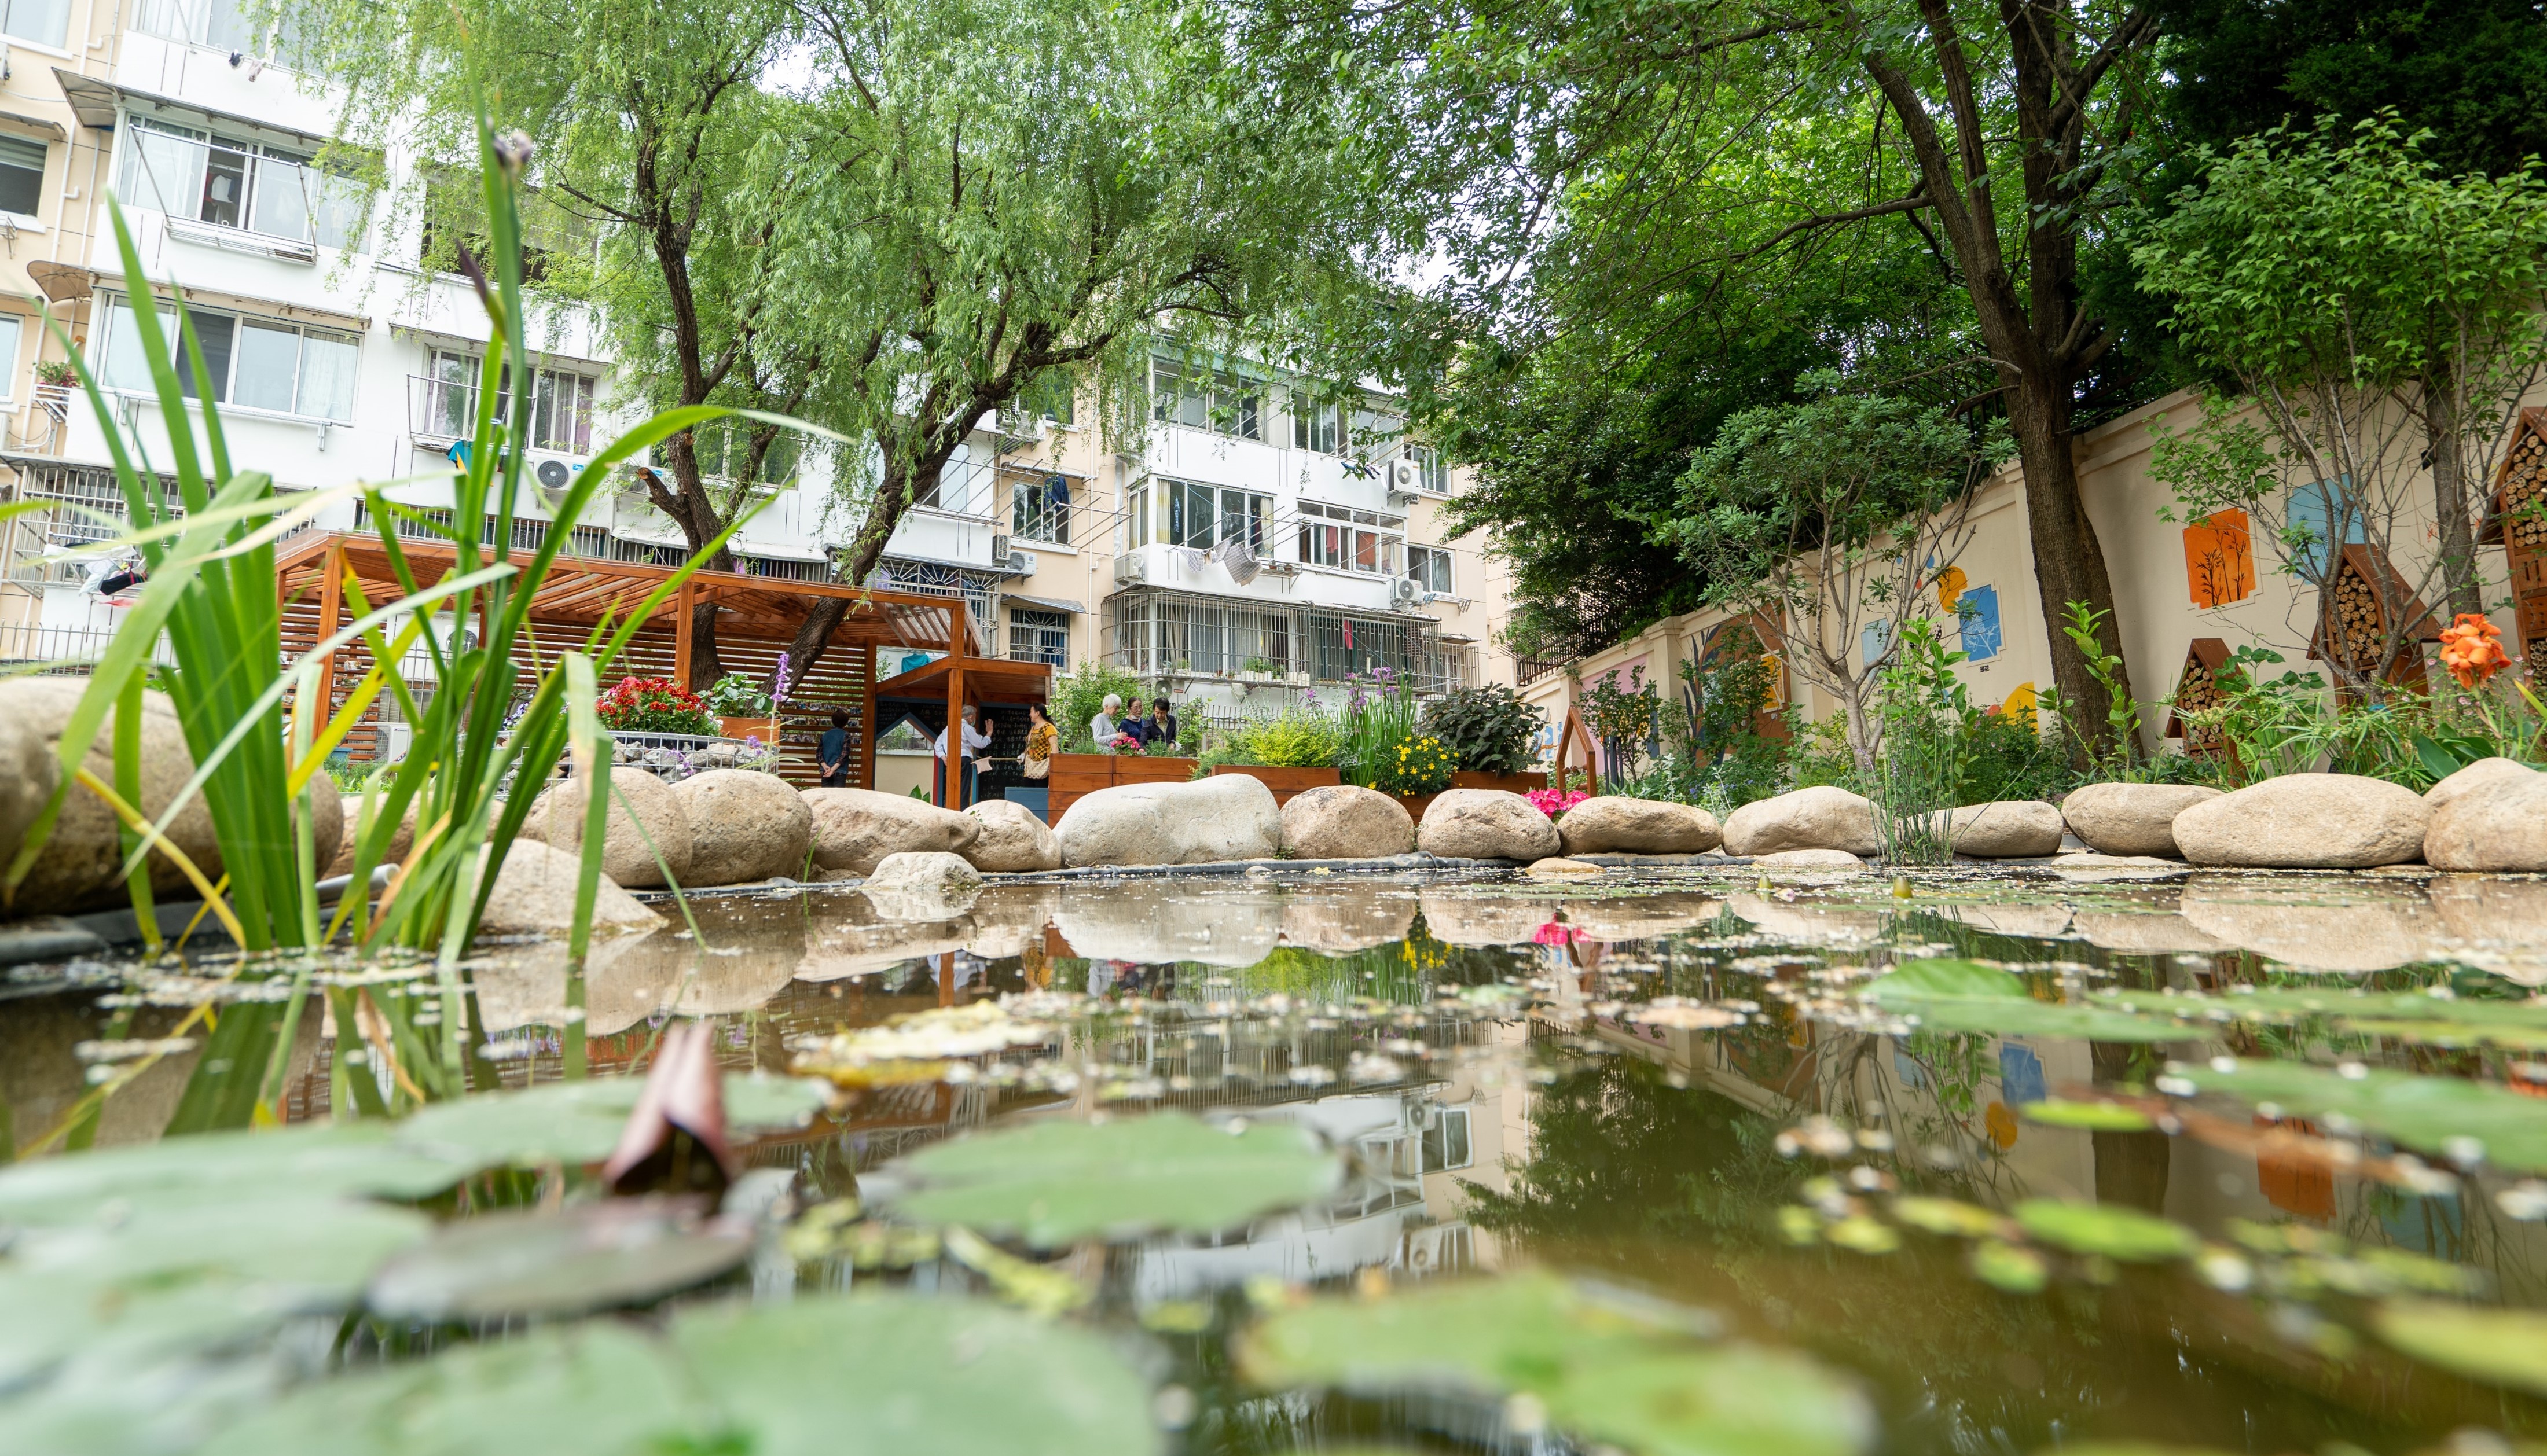
[[(2043, 629), (2053, 649), (2053, 682), (2061, 700), (2071, 705), (2068, 728), (2089, 743), (2106, 748), (2111, 725), (2106, 713), (2114, 695), (2086, 667), (2086, 654), (2061, 631), (2068, 621), (2068, 603), (2081, 601), (2104, 613), (2096, 639), (2104, 652), (2122, 657), (2122, 621), (2114, 611), (2114, 578), (2104, 568), (2104, 547), (2096, 542), (2096, 524), (2086, 514), (2086, 496), (2078, 491), (2078, 458), (2071, 451), (2073, 430), (2068, 420), (2068, 387), (2045, 389), (2043, 379), (2015, 379), (2007, 392), (2007, 420), (2017, 435), (2017, 463), (2025, 471), (2025, 524), (2035, 547), (2035, 598), (2043, 606)], [(2124, 692), (2129, 667), (2122, 669)], [(2139, 743), (2114, 743), (2132, 759)]]

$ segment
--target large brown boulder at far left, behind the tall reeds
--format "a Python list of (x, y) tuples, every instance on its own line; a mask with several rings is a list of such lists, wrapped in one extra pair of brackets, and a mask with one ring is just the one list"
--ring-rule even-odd
[[(61, 781), (59, 743), (61, 731), (79, 708), (84, 677), (10, 677), (0, 680), (0, 865), (18, 855), (25, 832)], [(99, 781), (115, 781), (115, 720), (97, 728), (82, 766)], [(176, 802), (176, 792), (194, 776), (194, 753), (186, 748), (186, 731), (176, 720), (176, 708), (160, 692), (143, 692), (140, 731), (140, 809), (153, 822)], [(321, 853), (326, 853), (326, 825)], [(168, 843), (178, 848), (204, 878), (222, 878), (222, 845), (211, 835), (211, 809), (196, 794), (168, 825)], [(122, 863), (115, 809), (89, 789), (71, 787), (61, 802), (61, 817), (43, 843), (43, 853), (18, 883), (15, 904), (8, 914), (59, 914), (82, 909), (107, 909), (127, 904), (125, 883), (115, 868)], [(194, 881), (163, 853), (150, 855), (150, 891), (171, 899), (196, 899)]]

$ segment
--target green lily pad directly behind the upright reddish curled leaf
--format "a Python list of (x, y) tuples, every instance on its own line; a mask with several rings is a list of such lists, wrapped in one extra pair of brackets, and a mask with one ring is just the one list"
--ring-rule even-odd
[[(530, 1092), (436, 1102), (397, 1128), (397, 1143), (451, 1161), (599, 1163), (619, 1145), (619, 1128), (644, 1092), (639, 1077), (550, 1082)], [(795, 1077), (726, 1077), (726, 1123), (734, 1130), (797, 1128), (828, 1092)]]

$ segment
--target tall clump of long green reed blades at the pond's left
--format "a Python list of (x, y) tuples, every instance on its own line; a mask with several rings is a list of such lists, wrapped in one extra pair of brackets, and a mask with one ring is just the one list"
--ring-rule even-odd
[[(525, 410), (532, 400), (530, 351), (525, 346), (522, 295), (522, 148), (499, 145), (484, 115), (479, 120), (479, 168), (486, 201), (486, 257), (494, 275), (464, 257), (471, 285), (489, 318), (489, 344), (479, 372), (476, 415), (466, 463), (451, 481), (451, 527), (425, 512), (392, 501), (382, 484), (346, 484), (323, 491), (280, 496), (265, 471), (237, 468), (222, 433), (211, 379), (196, 344), (183, 293), (171, 288), (173, 336), (183, 367), (194, 374), (194, 400), (201, 407), (196, 435), (181, 359), (122, 209), (112, 206), (125, 277), (143, 283), (132, 293), (138, 341), (168, 433), (171, 471), (178, 484), (178, 512), (163, 509), (148, 461), (135, 463), (117, 428), (115, 410), (89, 361), (61, 326), (89, 407), (107, 440), (117, 486), (125, 496), (130, 529), (117, 547), (138, 550), (148, 565), (148, 585), (117, 626), (99, 657), (89, 687), (59, 741), (61, 781), (53, 799), (28, 830), (23, 848), (0, 871), (0, 893), (13, 893), (51, 837), (66, 794), (94, 792), (125, 822), (125, 876), (135, 911), (153, 927), (145, 863), (163, 853), (188, 873), (209, 911), (242, 952), (245, 975), (290, 975), (293, 995), (229, 1005), (211, 1031), (204, 1067), (262, 1067), (265, 1077), (196, 1074), (171, 1120), (171, 1133), (227, 1128), (273, 1120), (283, 1097), (283, 1064), (308, 1000), (313, 965), (308, 952), (346, 934), (362, 957), (387, 949), (430, 955), (436, 995), (430, 1013), (418, 998), (382, 998), (331, 988), (331, 1011), (341, 1039), (367, 1039), (374, 1056), (395, 1072), (397, 1095), (382, 1100), (367, 1077), (341, 1077), (344, 1092), (364, 1110), (397, 1110), (400, 1100), (451, 1097), (471, 1084), (489, 1084), (492, 1069), (469, 1049), (479, 1041), (474, 995), (466, 988), (464, 949), (476, 932), (494, 888), (497, 868), (530, 815), (532, 787), (548, 779), (573, 738), (576, 753), (593, 781), (609, 781), (606, 738), (593, 718), (599, 680), (614, 667), (634, 634), (749, 514), (657, 583), (624, 616), (606, 616), (583, 639), (581, 652), (540, 662), (532, 636), (532, 601), (555, 568), (558, 550), (571, 540), (576, 519), (591, 507), (611, 471), (649, 445), (728, 415), (825, 433), (797, 420), (754, 410), (695, 405), (665, 410), (632, 428), (583, 471), (565, 499), (550, 512), (550, 529), (527, 557), (512, 550), (514, 501), (522, 486), (517, 420), (504, 402)], [(835, 435), (833, 435), (835, 438)], [(397, 481), (392, 481), (397, 484)], [(367, 601), (362, 583), (346, 573), (346, 621), (321, 639), (295, 664), (283, 662), (283, 601), (275, 591), (275, 542), (313, 524), (323, 512), (354, 496), (369, 504), (380, 547), (397, 580), (397, 598)], [(23, 509), (23, 507), (18, 507)], [(479, 524), (494, 524), (486, 547)], [(400, 535), (430, 535), (451, 542), (453, 563), (430, 580), (400, 545)], [(390, 639), (392, 624), (400, 624)], [(461, 631), (476, 624), (476, 636)], [(173, 664), (153, 669), (153, 649), (166, 634)], [(362, 641), (372, 667), (351, 685), (341, 708), (321, 703), (321, 664), (336, 649)], [(433, 692), (418, 703), (400, 664), (423, 647)], [(512, 715), (514, 697), (530, 677), (530, 703)], [(176, 708), (186, 746), (196, 761), (194, 776), (166, 812), (150, 822), (140, 815), (140, 692), (166, 690)], [(334, 914), (318, 896), (326, 868), (313, 843), (311, 784), (326, 771), (329, 753), (344, 743), (382, 695), (395, 697), (413, 725), (408, 756), (374, 771), (351, 804), (351, 883)], [(285, 703), (290, 705), (285, 713)], [(117, 710), (115, 781), (84, 769), (107, 713)], [(507, 794), (509, 784), (522, 792)], [(194, 865), (166, 840), (181, 807), (201, 792), (222, 850), (222, 878)], [(588, 794), (593, 832), (583, 835), (571, 960), (581, 967), (593, 896), (601, 873), (601, 817), (609, 799)], [(367, 893), (372, 876), (390, 858), (400, 820), (415, 812), (415, 835), (395, 865), (377, 904)], [(326, 845), (334, 850), (334, 845)], [(283, 960), (255, 960), (285, 952)], [(346, 1100), (339, 1100), (346, 1107)], [(66, 1123), (69, 1125), (69, 1123)]]

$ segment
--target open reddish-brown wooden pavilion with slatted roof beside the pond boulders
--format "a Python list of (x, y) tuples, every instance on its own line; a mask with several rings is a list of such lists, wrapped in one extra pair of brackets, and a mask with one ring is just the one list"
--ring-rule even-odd
[[(451, 573), (456, 550), (436, 537), (402, 537), (397, 542), (408, 573), (418, 583), (433, 583)], [(489, 552), (494, 547), (486, 547)], [(522, 555), (520, 547), (514, 555)], [(380, 608), (405, 593), (390, 570), (390, 555), (374, 535), (303, 532), (275, 547), (275, 578), (283, 596), (283, 649), (306, 654), (321, 639), (334, 636), (346, 621), (344, 580), (351, 575), (362, 585), (362, 598)], [(530, 606), (532, 649), (543, 662), (558, 652), (583, 647), (593, 624), (624, 619), (672, 575), (672, 568), (599, 560), (583, 555), (558, 555)], [(693, 573), (667, 596), (629, 639), (619, 672), (639, 677), (690, 680), (690, 634), (700, 603), (716, 603), (716, 654), (731, 672), (769, 677), (812, 603), (848, 598), (848, 616), (833, 629), (830, 647), (812, 672), (792, 675), (787, 705), (782, 710), (779, 748), (784, 776), (800, 787), (818, 779), (815, 738), (830, 725), (830, 713), (846, 708), (856, 723), (856, 766), (851, 784), (871, 789), (876, 784), (876, 733), (879, 692), (904, 713), (914, 703), (927, 703), (927, 718), (937, 725), (973, 705), (1024, 705), (1044, 703), (1052, 690), (1052, 667), (1042, 662), (1011, 662), (986, 652), (981, 621), (973, 621), (960, 596), (922, 596), (907, 591), (876, 591), (841, 583), (787, 580), (767, 575), (741, 575), (721, 570)], [(881, 675), (886, 652), (940, 654), (927, 667)], [(321, 667), (318, 682), (331, 710), (364, 672), (372, 669), (369, 647), (362, 641), (339, 647)], [(535, 667), (525, 664), (517, 680), (527, 687)], [(377, 708), (374, 708), (377, 713)], [(1024, 718), (1024, 713), (1019, 713)], [(372, 753), (385, 751), (382, 731), (372, 736)], [(950, 774), (940, 802), (963, 807), (963, 774)]]

